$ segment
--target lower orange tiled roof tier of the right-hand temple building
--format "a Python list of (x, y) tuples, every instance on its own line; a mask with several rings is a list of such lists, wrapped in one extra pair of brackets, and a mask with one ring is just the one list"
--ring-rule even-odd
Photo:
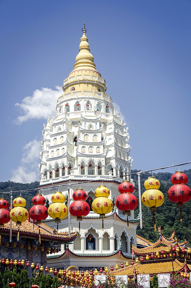
[[(135, 269), (140, 273), (140, 274), (159, 274), (159, 273), (170, 273), (172, 269), (172, 261), (169, 259), (168, 261), (161, 261), (161, 262), (156, 262), (156, 263), (145, 263), (145, 264), (135, 264), (135, 265), (130, 265), (128, 267), (119, 269), (118, 271), (113, 271), (111, 272), (114, 275), (128, 275), (128, 276), (133, 276), (134, 275), (134, 266)], [(181, 263), (177, 259), (173, 261), (173, 267), (174, 267), (174, 272), (179, 272), (179, 271), (187, 271), (190, 272), (191, 265), (186, 264), (186, 262)]]

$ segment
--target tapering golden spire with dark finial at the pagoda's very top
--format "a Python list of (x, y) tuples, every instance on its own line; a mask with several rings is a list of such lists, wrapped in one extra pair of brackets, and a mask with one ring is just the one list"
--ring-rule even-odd
[(80, 39), (80, 49), (79, 53), (75, 58), (75, 64), (74, 68), (79, 68), (79, 67), (91, 67), (95, 69), (95, 64), (94, 64), (94, 57), (90, 53), (90, 46), (88, 44), (88, 38), (86, 37), (86, 29), (85, 29), (85, 22), (84, 22), (84, 28), (82, 28), (82, 38)]

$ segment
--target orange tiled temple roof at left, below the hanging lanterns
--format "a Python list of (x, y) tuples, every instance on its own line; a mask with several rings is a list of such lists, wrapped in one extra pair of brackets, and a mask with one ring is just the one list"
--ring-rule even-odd
[[(56, 233), (54, 229), (48, 227), (45, 224), (37, 225), (35, 223), (31, 223), (28, 221), (22, 222), (22, 225), (19, 226), (19, 234), (20, 236), (24, 236), (25, 238), (38, 238), (39, 237), (39, 228), (41, 234), (41, 240), (54, 240), (57, 242), (63, 241), (71, 241), (77, 237), (77, 233), (71, 233), (69, 237), (68, 233)], [(17, 234), (18, 226), (16, 226), (15, 222), (12, 222), (12, 234)], [(4, 227), (1, 228), (1, 234), (3, 235), (10, 235), (10, 222), (5, 223)]]

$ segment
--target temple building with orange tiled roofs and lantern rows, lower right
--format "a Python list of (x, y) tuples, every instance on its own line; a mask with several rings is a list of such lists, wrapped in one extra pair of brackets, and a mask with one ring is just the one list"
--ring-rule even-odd
[[(114, 275), (128, 275), (133, 278), (135, 275), (150, 274), (154, 276), (160, 273), (179, 273), (182, 276), (189, 277), (191, 272), (191, 248), (187, 246), (187, 241), (178, 243), (175, 237), (175, 231), (172, 231), (170, 238), (163, 236), (161, 228), (158, 228), (159, 239), (152, 243), (140, 236), (137, 236), (139, 245), (132, 246), (133, 254), (139, 259), (138, 263), (129, 265), (119, 270), (111, 272)], [(138, 245), (137, 245), (138, 246)], [(115, 267), (116, 263), (113, 263)]]

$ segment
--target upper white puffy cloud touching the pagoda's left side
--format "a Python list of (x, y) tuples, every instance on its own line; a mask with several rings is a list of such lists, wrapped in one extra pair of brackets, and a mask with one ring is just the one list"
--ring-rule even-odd
[(22, 103), (16, 103), (20, 109), (21, 115), (17, 117), (16, 124), (21, 124), (24, 121), (31, 119), (50, 118), (55, 116), (55, 104), (59, 96), (63, 94), (61, 86), (55, 86), (56, 90), (50, 88), (36, 89), (32, 96), (27, 96), (22, 100)]

